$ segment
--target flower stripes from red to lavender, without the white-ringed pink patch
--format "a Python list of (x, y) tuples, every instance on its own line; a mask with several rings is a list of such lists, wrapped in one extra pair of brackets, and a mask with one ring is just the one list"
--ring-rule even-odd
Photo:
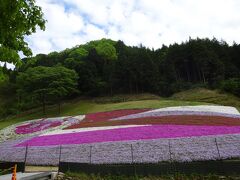
[[(232, 107), (118, 110), (80, 119), (68, 118), (58, 129), (0, 143), (0, 161), (24, 161), (26, 154), (27, 164), (36, 165), (57, 165), (59, 159), (102, 164), (240, 158), (240, 114)], [(18, 126), (27, 129), (23, 132), (38, 128)]]

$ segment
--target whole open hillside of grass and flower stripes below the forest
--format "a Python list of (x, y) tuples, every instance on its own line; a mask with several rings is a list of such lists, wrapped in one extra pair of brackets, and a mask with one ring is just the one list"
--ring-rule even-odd
[[(105, 165), (113, 173), (113, 164), (122, 165), (119, 172), (124, 172), (125, 164), (143, 168), (152, 164), (170, 167), (166, 173), (172, 173), (173, 162), (187, 163), (190, 169), (174, 172), (200, 173), (208, 163), (222, 163), (221, 172), (235, 173), (240, 163), (240, 113), (213, 102), (238, 105), (239, 100), (193, 89), (170, 98), (152, 94), (79, 98), (64, 103), (60, 114), (57, 105), (48, 106), (44, 117), (41, 108), (32, 109), (0, 123), (1, 128), (12, 124), (0, 130), (0, 161), (58, 166), (61, 172), (75, 172), (76, 164), (100, 165), (99, 171), (89, 171), (95, 174)], [(68, 168), (60, 162), (68, 163)], [(207, 168), (207, 173), (219, 172)]]

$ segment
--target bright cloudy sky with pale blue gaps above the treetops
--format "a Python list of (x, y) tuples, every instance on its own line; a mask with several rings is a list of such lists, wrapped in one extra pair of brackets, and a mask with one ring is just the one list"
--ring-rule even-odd
[(239, 0), (37, 0), (46, 30), (27, 37), (33, 53), (111, 38), (160, 48), (192, 38), (240, 42)]

